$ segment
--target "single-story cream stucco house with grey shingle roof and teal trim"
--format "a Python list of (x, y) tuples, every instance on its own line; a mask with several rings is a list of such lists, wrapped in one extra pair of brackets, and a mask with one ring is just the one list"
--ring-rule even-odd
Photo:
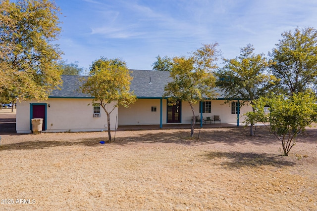
[[(131, 70), (133, 80), (130, 89), (137, 96), (137, 101), (129, 108), (115, 108), (110, 115), (110, 129), (128, 125), (168, 125), (191, 124), (192, 111), (187, 102), (169, 106), (162, 98), (164, 86), (171, 81), (170, 73), (164, 71)], [(107, 129), (106, 113), (93, 97), (79, 90), (85, 76), (62, 76), (61, 89), (53, 90), (46, 101), (36, 100), (17, 103), (16, 132), (30, 133), (31, 120), (43, 118), (44, 132), (65, 131), (101, 131)], [(214, 115), (221, 118), (221, 123), (241, 124), (244, 113), (251, 111), (251, 106), (239, 107), (239, 99), (232, 99), (225, 104), (225, 99), (206, 99), (194, 106), (195, 114), (206, 119)], [(90, 105), (88, 105), (90, 104)], [(108, 105), (113, 108), (113, 104)]]

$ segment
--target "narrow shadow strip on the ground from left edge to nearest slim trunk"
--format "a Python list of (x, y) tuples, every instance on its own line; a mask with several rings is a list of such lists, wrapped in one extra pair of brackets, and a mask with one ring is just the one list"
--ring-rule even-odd
[(51, 147), (58, 147), (58, 146), (98, 146), (101, 145), (100, 141), (102, 138), (87, 138), (87, 139), (80, 139), (78, 141), (25, 141), (19, 143), (12, 143), (12, 144), (4, 144), (0, 146), (0, 151), (5, 150), (34, 150), (34, 149), (45, 149)]

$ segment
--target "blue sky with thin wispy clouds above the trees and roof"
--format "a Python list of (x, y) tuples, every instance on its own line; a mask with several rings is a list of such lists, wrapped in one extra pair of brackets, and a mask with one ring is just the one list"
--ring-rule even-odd
[(152, 70), (156, 57), (188, 56), (217, 42), (222, 59), (253, 44), (267, 53), (285, 31), (317, 28), (317, 0), (55, 0), (63, 60), (89, 70), (101, 56)]

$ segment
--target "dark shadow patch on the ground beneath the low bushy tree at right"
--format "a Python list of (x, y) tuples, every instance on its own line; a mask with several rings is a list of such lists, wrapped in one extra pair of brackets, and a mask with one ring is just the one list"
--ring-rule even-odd
[(259, 168), (263, 166), (284, 167), (294, 166), (296, 163), (283, 159), (282, 156), (273, 156), (266, 153), (252, 152), (207, 152), (202, 155), (208, 160), (224, 159), (221, 165), (228, 169), (243, 167)]

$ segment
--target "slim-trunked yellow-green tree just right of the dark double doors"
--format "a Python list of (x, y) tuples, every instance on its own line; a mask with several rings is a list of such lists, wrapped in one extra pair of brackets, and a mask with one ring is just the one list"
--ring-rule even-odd
[(174, 57), (173, 66), (170, 71), (172, 82), (164, 88), (163, 97), (168, 97), (171, 104), (178, 100), (188, 102), (193, 113), (193, 124), (190, 136), (194, 136), (195, 111), (194, 104), (205, 99), (213, 98), (215, 78), (212, 70), (217, 68), (214, 62), (217, 60), (219, 51), (217, 43), (204, 44), (188, 58)]

